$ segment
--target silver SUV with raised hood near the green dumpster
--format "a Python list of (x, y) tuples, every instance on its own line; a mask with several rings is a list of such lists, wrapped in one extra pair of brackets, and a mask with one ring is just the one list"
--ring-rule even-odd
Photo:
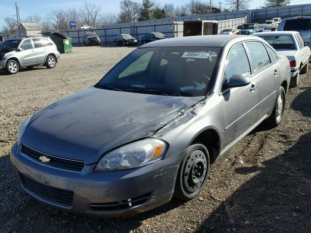
[(0, 69), (6, 69), (9, 74), (16, 74), (21, 67), (54, 68), (59, 58), (56, 45), (45, 36), (17, 37), (0, 44)]

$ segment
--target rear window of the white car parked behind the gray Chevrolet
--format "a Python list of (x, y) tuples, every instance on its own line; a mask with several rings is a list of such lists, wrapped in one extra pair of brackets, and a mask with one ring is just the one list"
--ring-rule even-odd
[(291, 35), (260, 35), (275, 50), (296, 50)]

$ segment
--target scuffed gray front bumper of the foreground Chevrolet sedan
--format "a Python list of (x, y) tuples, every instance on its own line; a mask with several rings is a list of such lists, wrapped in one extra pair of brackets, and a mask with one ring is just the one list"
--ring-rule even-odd
[[(134, 216), (160, 206), (171, 200), (179, 163), (183, 152), (160, 160), (153, 164), (138, 168), (94, 172), (96, 164), (86, 165), (82, 173), (63, 171), (40, 164), (20, 155), (17, 143), (11, 149), (11, 162), (21, 188), (34, 197), (54, 207), (83, 215), (116, 217)], [(19, 174), (19, 175), (18, 175)], [(20, 176), (26, 176), (33, 181), (73, 192), (71, 206), (64, 206), (53, 200), (42, 198), (40, 193), (27, 188)], [(144, 203), (132, 204), (131, 200), (150, 195)], [(94, 210), (93, 204), (101, 206), (110, 203), (127, 201), (121, 209)], [(134, 202), (133, 202), (134, 203)]]

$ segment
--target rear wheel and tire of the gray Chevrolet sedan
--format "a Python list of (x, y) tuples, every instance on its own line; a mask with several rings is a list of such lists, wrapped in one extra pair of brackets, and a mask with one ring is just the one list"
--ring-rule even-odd
[[(280, 108), (280, 100), (279, 98), (281, 98), (282, 100), (282, 107)], [(276, 127), (278, 126), (282, 119), (283, 119), (283, 115), (284, 115), (284, 109), (285, 109), (285, 90), (284, 87), (280, 86), (280, 88), (278, 89), (277, 92), (277, 96), (276, 96), (276, 102), (273, 108), (273, 111), (271, 113), (271, 115), (269, 116), (269, 118), (266, 120), (267, 124), (272, 126), (272, 127)]]

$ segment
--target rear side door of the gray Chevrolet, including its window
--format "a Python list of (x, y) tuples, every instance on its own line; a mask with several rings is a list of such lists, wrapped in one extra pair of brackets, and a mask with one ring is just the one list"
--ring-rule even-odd
[[(279, 67), (276, 53), (271, 50), (271, 59), (267, 48), (259, 41), (245, 43), (251, 61), (251, 68), (259, 93), (259, 114), (255, 116), (255, 121), (262, 120), (271, 113), (275, 105), (276, 90), (279, 83)], [(273, 56), (273, 57), (272, 57)]]

